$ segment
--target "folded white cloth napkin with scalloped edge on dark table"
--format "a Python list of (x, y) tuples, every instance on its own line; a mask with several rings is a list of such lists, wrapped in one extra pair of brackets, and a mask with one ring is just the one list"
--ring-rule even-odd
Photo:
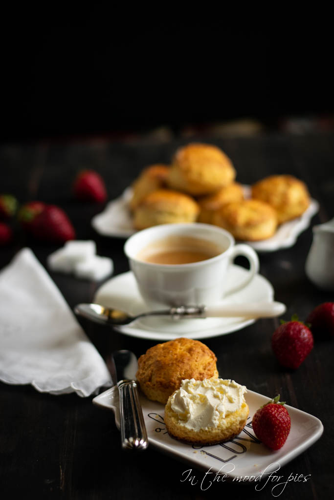
[(107, 366), (30, 248), (0, 272), (0, 380), (88, 396)]

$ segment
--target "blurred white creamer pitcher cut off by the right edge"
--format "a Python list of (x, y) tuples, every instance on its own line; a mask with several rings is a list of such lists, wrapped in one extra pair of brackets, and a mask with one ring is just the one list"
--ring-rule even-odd
[(305, 272), (319, 288), (334, 290), (334, 218), (313, 227)]

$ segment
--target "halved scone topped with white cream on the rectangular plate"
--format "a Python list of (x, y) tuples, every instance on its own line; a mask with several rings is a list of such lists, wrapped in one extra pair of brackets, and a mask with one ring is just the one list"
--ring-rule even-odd
[(246, 387), (234, 380), (182, 380), (165, 407), (168, 433), (196, 444), (233, 439), (244, 428), (249, 414), (245, 392)]

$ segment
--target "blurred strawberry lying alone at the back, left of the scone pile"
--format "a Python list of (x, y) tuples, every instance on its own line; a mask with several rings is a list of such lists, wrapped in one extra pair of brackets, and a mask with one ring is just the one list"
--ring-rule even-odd
[(107, 191), (103, 178), (94, 170), (83, 170), (73, 184), (73, 191), (77, 198), (87, 201), (105, 201)]

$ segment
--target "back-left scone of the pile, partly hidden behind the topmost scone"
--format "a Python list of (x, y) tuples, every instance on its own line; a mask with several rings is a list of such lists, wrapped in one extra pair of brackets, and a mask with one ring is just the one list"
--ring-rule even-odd
[(130, 209), (134, 210), (146, 194), (166, 187), (169, 167), (161, 163), (144, 168), (139, 177), (132, 184), (132, 198)]

